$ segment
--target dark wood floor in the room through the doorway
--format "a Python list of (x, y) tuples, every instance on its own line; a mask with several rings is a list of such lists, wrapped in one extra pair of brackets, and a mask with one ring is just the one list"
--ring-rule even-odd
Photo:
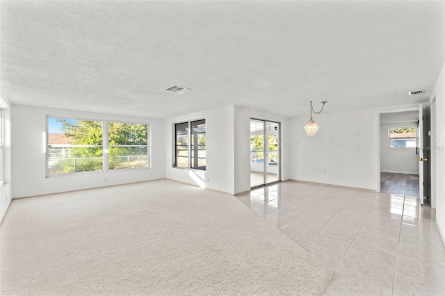
[(419, 197), (419, 176), (382, 172), (380, 173), (380, 191), (394, 195)]

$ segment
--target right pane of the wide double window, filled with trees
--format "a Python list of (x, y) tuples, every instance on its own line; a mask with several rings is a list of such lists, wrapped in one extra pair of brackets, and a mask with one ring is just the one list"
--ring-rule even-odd
[(148, 125), (108, 122), (108, 168), (148, 166)]

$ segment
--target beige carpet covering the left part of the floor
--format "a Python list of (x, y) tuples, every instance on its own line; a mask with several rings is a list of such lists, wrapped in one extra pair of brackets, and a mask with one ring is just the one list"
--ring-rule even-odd
[(236, 197), (161, 180), (14, 200), (2, 295), (321, 295), (333, 271)]

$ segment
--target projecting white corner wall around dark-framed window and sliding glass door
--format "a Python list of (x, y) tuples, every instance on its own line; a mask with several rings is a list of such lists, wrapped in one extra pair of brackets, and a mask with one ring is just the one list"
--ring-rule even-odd
[[(230, 194), (250, 190), (251, 117), (282, 123), (282, 179), (289, 179), (289, 167), (286, 162), (288, 148), (286, 139), (283, 137), (288, 119), (243, 106), (229, 106), (168, 119), (166, 122), (167, 178)], [(206, 171), (172, 167), (174, 124), (202, 118), (206, 120)]]

